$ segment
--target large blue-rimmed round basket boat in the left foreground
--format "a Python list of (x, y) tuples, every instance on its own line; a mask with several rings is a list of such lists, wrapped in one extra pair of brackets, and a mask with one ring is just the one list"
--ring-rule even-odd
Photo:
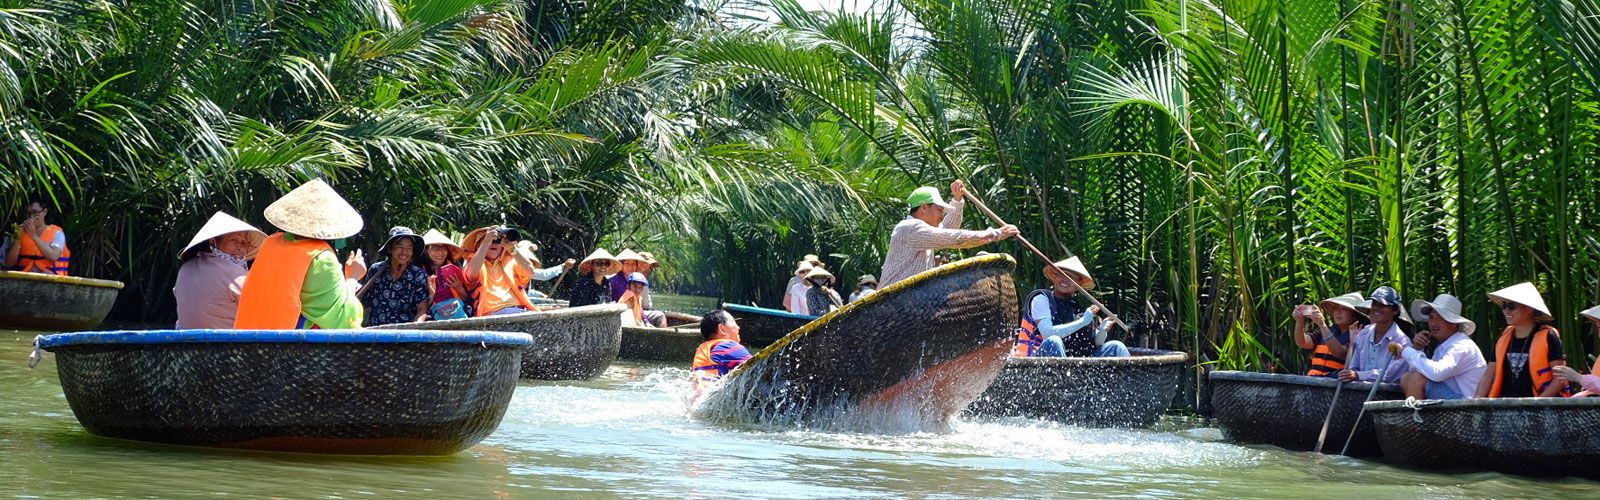
[(45, 335), (93, 434), (341, 455), (448, 455), (499, 426), (528, 335), (152, 330)]

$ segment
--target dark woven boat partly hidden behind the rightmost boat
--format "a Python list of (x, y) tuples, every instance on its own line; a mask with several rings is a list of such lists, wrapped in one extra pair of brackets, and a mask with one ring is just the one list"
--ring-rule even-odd
[[(1222, 438), (1240, 444), (1270, 444), (1309, 452), (1328, 417), (1328, 404), (1339, 380), (1285, 373), (1211, 372), (1211, 410)], [(1362, 402), (1373, 385), (1350, 381), (1339, 391), (1323, 452), (1338, 454), (1350, 436), (1350, 425), (1362, 413)], [(1400, 399), (1398, 385), (1378, 388), (1373, 401)], [(1378, 434), (1373, 420), (1363, 418), (1350, 439), (1350, 457), (1376, 457)]]

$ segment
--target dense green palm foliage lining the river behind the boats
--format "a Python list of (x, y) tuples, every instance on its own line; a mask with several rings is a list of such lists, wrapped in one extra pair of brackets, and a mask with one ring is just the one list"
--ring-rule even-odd
[(0, 48), (0, 208), (53, 196), (157, 316), (189, 228), (317, 175), (368, 248), (504, 218), (765, 304), (803, 253), (877, 272), (898, 197), (965, 178), (1134, 341), (1237, 369), (1381, 284), (1486, 341), (1533, 280), (1574, 359), (1600, 303), (1592, 0), (6, 2)]

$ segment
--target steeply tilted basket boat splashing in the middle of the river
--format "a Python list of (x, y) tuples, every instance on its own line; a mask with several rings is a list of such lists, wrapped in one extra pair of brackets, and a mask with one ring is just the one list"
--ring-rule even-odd
[(944, 428), (1005, 367), (1014, 268), (1011, 256), (987, 255), (888, 285), (728, 372), (693, 413), (765, 428)]

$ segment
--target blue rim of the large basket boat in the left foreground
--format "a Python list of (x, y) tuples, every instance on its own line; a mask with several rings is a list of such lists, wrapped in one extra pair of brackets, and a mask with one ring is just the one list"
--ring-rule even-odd
[(74, 332), (40, 335), (34, 340), (38, 349), (94, 345), (190, 345), (190, 343), (314, 343), (314, 345), (374, 345), (374, 343), (430, 343), (430, 345), (482, 345), (526, 346), (533, 343), (528, 333), (515, 332), (466, 332), (466, 330), (115, 330)]

